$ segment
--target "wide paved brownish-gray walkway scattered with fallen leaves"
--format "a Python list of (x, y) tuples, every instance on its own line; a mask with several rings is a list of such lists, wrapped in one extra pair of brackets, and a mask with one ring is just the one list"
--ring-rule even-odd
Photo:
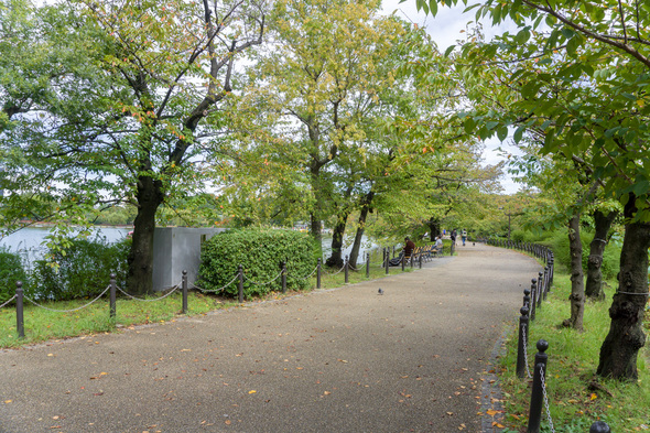
[(0, 432), (485, 431), (490, 354), (540, 267), (457, 250), (372, 282), (0, 351)]

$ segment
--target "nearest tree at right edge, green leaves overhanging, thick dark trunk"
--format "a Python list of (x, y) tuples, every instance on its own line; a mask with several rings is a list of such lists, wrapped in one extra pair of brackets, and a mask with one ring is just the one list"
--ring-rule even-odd
[[(433, 13), (438, 3), (457, 1), (418, 0)], [(483, 126), (486, 137), (512, 126), (517, 128), (516, 140), (527, 129), (539, 128), (545, 136), (543, 152), (567, 160), (588, 149), (585, 166), (600, 183), (605, 197), (618, 199), (626, 207), (619, 289), (597, 371), (621, 380), (635, 379), (638, 348), (644, 344), (641, 322), (650, 247), (646, 236), (650, 228), (650, 173), (641, 162), (650, 138), (646, 128), (650, 97), (642, 90), (650, 80), (648, 4), (622, 0), (487, 0), (472, 8), (476, 8), (477, 19), (490, 17), (495, 23), (510, 19), (519, 28), (517, 34), (507, 33), (498, 43), (484, 44), (480, 52), (466, 45), (465, 53), (475, 56), (470, 61), (480, 57), (494, 62), (497, 53), (514, 58), (495, 76), (519, 94), (507, 101), (508, 115), (469, 116), (472, 121)], [(543, 25), (543, 34), (535, 32)], [(557, 83), (573, 85), (561, 99), (555, 91)]]

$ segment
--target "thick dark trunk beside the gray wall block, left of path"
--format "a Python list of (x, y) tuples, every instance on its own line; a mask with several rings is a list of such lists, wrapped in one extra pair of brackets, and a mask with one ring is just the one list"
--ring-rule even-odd
[(132, 294), (150, 294), (153, 292), (155, 213), (163, 202), (161, 182), (140, 176), (136, 198), (138, 215), (133, 223), (133, 243), (128, 257), (127, 290)]

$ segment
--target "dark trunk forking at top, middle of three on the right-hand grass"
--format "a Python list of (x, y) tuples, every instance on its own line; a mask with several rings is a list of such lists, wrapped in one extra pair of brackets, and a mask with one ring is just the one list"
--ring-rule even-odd
[(594, 212), (594, 224), (596, 232), (594, 240), (589, 245), (589, 259), (587, 260), (587, 282), (585, 285), (585, 295), (588, 299), (604, 301), (605, 292), (603, 291), (603, 253), (607, 245), (607, 234), (611, 227), (611, 223), (616, 219), (618, 213), (609, 212), (605, 215), (600, 210)]

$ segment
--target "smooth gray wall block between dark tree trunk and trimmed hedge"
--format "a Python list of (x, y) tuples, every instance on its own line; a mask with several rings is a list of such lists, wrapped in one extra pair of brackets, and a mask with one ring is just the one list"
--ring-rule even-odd
[(153, 290), (181, 283), (187, 270), (189, 286), (196, 281), (201, 243), (226, 228), (156, 227), (153, 232)]

